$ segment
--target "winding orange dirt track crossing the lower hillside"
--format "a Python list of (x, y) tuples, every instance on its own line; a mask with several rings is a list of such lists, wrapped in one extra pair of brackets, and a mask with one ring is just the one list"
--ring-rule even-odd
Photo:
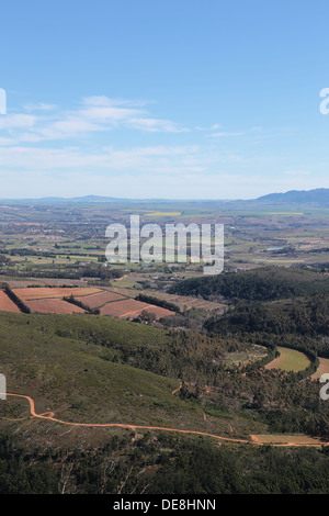
[[(0, 393), (3, 394), (3, 393)], [(53, 412), (45, 412), (43, 414), (37, 414), (35, 412), (35, 405), (34, 405), (34, 400), (30, 396), (26, 396), (24, 394), (13, 394), (13, 393), (7, 393), (7, 396), (14, 396), (14, 397), (23, 397), (29, 401), (30, 403), (30, 412), (32, 417), (36, 417), (38, 419), (45, 419), (45, 420), (52, 420), (55, 423), (60, 423), (61, 425), (67, 425), (67, 426), (83, 426), (83, 427), (89, 427), (89, 428), (126, 428), (126, 429), (143, 429), (143, 430), (161, 430), (161, 431), (172, 431), (175, 434), (191, 434), (191, 435), (196, 435), (196, 436), (205, 436), (205, 437), (212, 437), (214, 439), (220, 440), (220, 441), (230, 441), (230, 442), (245, 442), (245, 444), (251, 444), (251, 445), (257, 445), (257, 446), (264, 446), (263, 442), (260, 442), (257, 440), (257, 436), (251, 436), (252, 440), (247, 440), (247, 439), (235, 439), (235, 438), (229, 438), (229, 437), (223, 437), (223, 436), (217, 436), (215, 434), (208, 434), (205, 431), (198, 431), (198, 430), (182, 430), (181, 428), (166, 428), (161, 426), (144, 426), (144, 425), (128, 425), (125, 423), (72, 423), (72, 422), (65, 422), (61, 419), (57, 419), (54, 417)], [(46, 415), (48, 414), (48, 415)], [(265, 445), (269, 445), (266, 442)], [(272, 446), (276, 447), (283, 447), (283, 446), (297, 446), (297, 447), (317, 447), (319, 448), (320, 446), (326, 445), (326, 442), (319, 442), (319, 444), (272, 444)]]

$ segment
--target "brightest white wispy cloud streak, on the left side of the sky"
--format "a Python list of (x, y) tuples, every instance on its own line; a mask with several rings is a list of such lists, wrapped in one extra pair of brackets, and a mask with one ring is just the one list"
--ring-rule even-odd
[[(83, 98), (73, 110), (53, 104), (25, 104), (24, 111), (0, 119), (0, 145), (65, 141), (124, 127), (148, 133), (188, 132), (173, 121), (152, 116), (146, 102), (110, 99), (104, 96)], [(7, 139), (10, 138), (10, 142)]]

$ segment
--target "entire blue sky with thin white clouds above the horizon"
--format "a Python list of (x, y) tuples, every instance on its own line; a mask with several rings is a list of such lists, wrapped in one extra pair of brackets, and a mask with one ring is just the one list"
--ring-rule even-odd
[(328, 0), (11, 0), (0, 20), (0, 199), (329, 188)]

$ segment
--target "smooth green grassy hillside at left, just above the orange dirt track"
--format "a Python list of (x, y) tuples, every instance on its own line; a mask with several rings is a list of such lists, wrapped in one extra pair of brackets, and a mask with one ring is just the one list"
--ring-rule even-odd
[[(171, 394), (177, 379), (113, 363), (112, 349), (82, 338), (92, 328), (113, 341), (148, 346), (166, 341), (164, 332), (118, 319), (0, 313), (0, 368), (8, 392), (34, 397), (37, 413), (52, 410), (56, 417), (76, 423), (149, 424), (227, 434), (227, 420), (213, 417), (205, 423), (201, 406)], [(10, 400), (0, 406), (0, 414), (20, 417), (26, 414), (23, 404)], [(235, 427), (240, 435), (257, 430), (243, 422)]]

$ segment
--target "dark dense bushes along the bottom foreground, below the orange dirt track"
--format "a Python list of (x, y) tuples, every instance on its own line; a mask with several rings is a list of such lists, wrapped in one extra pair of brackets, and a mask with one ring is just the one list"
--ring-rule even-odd
[(200, 439), (114, 435), (97, 448), (31, 450), (0, 435), (0, 494), (329, 493), (328, 448), (214, 447)]

